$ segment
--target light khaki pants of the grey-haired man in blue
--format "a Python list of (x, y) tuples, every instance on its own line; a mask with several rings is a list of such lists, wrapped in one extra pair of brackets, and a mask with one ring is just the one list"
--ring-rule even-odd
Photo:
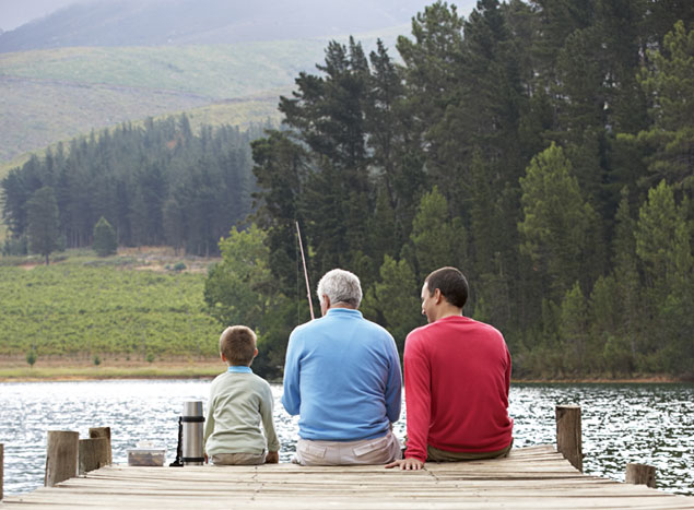
[(401, 459), (398, 438), (388, 432), (358, 441), (310, 441), (299, 439), (293, 462), (302, 465), (387, 464)]

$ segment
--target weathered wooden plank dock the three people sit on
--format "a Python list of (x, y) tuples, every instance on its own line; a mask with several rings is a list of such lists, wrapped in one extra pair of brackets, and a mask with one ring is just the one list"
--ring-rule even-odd
[(384, 466), (129, 467), (9, 496), (0, 509), (694, 509), (694, 497), (581, 474), (551, 446), (507, 459)]

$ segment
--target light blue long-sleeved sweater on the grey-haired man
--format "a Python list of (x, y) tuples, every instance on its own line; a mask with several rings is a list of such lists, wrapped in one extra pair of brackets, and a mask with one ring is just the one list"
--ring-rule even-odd
[(383, 437), (400, 417), (402, 373), (390, 333), (358, 310), (331, 308), (297, 327), (284, 364), (282, 404), (303, 439)]

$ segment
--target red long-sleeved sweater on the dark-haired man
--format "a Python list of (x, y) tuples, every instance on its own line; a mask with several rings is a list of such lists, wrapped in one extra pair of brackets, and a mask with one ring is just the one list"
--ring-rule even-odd
[(412, 331), (404, 344), (407, 458), (426, 460), (426, 446), (454, 452), (503, 450), (510, 355), (494, 328), (446, 317)]

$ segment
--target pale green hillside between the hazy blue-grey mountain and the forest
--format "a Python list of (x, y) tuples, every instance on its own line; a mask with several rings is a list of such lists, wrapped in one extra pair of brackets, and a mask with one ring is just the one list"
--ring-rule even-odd
[[(92, 129), (199, 107), (222, 123), (262, 121), (296, 74), (314, 69), (325, 44), (0, 54), (0, 162)], [(220, 109), (210, 108), (216, 104)]]

